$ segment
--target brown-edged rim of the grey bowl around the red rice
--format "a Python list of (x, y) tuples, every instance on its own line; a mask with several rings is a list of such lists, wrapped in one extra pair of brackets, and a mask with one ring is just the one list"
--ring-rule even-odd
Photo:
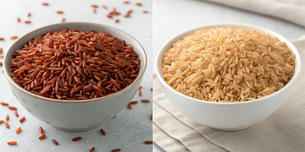
[[(99, 24), (99, 23), (93, 23), (93, 22), (66, 22), (66, 23), (56, 23), (56, 24), (50, 24), (50, 25), (47, 25), (47, 26), (42, 26), (42, 27), (39, 27), (37, 29), (34, 29), (30, 32), (28, 32), (27, 34), (24, 34), (23, 36), (19, 37), (17, 40), (15, 40), (15, 42), (13, 44), (10, 45), (9, 49), (5, 52), (5, 55), (4, 55), (4, 59), (3, 61), (6, 61), (8, 59), (6, 59), (8, 56), (7, 54), (9, 54), (9, 52), (11, 51), (14, 51), (12, 50), (12, 47), (14, 45), (16, 45), (17, 43), (19, 43), (20, 40), (24, 39), (24, 37), (30, 35), (31, 33), (33, 32), (36, 32), (38, 30), (42, 30), (42, 29), (46, 29), (46, 28), (49, 28), (49, 27), (52, 27), (52, 26), (58, 26), (58, 25), (63, 25), (63, 24), (66, 24), (66, 25), (70, 25), (70, 24), (87, 24), (87, 25), (95, 25), (95, 26), (104, 26), (106, 28), (110, 28), (110, 29), (114, 29), (114, 30), (117, 30), (117, 31), (120, 31), (122, 33), (125, 33), (127, 36), (129, 36), (131, 39), (135, 40), (136, 43), (138, 43), (138, 45), (140, 46), (140, 49), (143, 50), (143, 61), (141, 62), (143, 64), (143, 70), (142, 71), (139, 71), (138, 73), (138, 76), (137, 78), (135, 79), (135, 81), (133, 81), (130, 85), (128, 85), (126, 88), (120, 90), (119, 92), (116, 92), (116, 93), (113, 93), (111, 95), (107, 95), (107, 96), (104, 96), (104, 97), (100, 97), (100, 98), (94, 98), (94, 99), (87, 99), (87, 100), (59, 100), (59, 99), (52, 99), (52, 98), (47, 98), (47, 97), (42, 97), (42, 96), (39, 96), (39, 95), (35, 95), (34, 93), (31, 93), (31, 92), (28, 92), (27, 90), (25, 90), (24, 88), (20, 87), (19, 85), (17, 85), (13, 79), (11, 78), (10, 74), (8, 74), (6, 72), (6, 67), (7, 66), (10, 66), (9, 64), (6, 65), (5, 62), (3, 62), (3, 69), (4, 69), (4, 73), (5, 73), (5, 76), (6, 78), (9, 80), (9, 82), (11, 84), (13, 84), (13, 86), (15, 88), (17, 88), (18, 90), (20, 90), (21, 92), (27, 94), (27, 95), (30, 95), (30, 96), (33, 96), (34, 98), (38, 98), (38, 99), (41, 99), (41, 100), (45, 100), (45, 101), (48, 101), (48, 102), (59, 102), (59, 103), (88, 103), (88, 102), (97, 102), (97, 101), (101, 101), (103, 99), (107, 99), (107, 98), (112, 98), (114, 96), (117, 96), (117, 95), (120, 95), (124, 92), (126, 92), (127, 90), (129, 90), (132, 86), (134, 86), (144, 75), (145, 73), (145, 70), (146, 70), (146, 66), (147, 66), (147, 56), (146, 56), (146, 53), (145, 53), (145, 50), (144, 48), (142, 47), (142, 45), (138, 42), (138, 40), (136, 40), (133, 36), (131, 36), (130, 34), (124, 32), (123, 30), (121, 29), (118, 29), (118, 28), (115, 28), (113, 26), (109, 26), (109, 25), (105, 25), (105, 24)], [(45, 33), (42, 33), (42, 34), (45, 34)], [(41, 35), (42, 35), (41, 34)], [(111, 34), (111, 33), (110, 33)], [(118, 37), (120, 38), (120, 37)], [(138, 53), (138, 52), (136, 52)], [(6, 58), (5, 58), (6, 57)], [(9, 68), (9, 67), (7, 67)]]

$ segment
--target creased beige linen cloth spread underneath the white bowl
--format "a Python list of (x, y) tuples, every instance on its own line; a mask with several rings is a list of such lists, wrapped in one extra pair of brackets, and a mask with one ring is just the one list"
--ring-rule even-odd
[[(305, 62), (305, 36), (292, 40)], [(304, 152), (305, 65), (289, 98), (270, 117), (245, 130), (219, 131), (174, 108), (153, 75), (153, 142), (168, 152)]]

